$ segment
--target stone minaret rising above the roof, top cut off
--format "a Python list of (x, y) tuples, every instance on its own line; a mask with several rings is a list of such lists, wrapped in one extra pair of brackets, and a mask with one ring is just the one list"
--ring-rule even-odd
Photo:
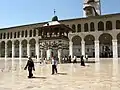
[(83, 16), (99, 16), (101, 15), (100, 0), (84, 0)]

